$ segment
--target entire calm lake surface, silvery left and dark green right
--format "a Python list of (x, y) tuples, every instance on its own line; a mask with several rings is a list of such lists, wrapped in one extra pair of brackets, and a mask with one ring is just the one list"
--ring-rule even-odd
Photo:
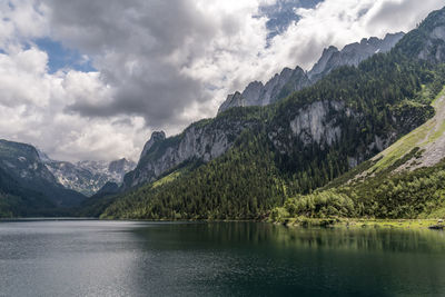
[(445, 296), (445, 232), (0, 222), (0, 296)]

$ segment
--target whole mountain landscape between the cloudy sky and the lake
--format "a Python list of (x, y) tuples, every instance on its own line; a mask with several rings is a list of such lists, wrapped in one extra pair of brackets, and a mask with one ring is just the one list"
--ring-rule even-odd
[(406, 34), (329, 47), (310, 71), (229, 95), (215, 118), (152, 132), (137, 165), (2, 140), (0, 215), (29, 216), (17, 209), (32, 197), (107, 219), (443, 216), (444, 32), (442, 9)]

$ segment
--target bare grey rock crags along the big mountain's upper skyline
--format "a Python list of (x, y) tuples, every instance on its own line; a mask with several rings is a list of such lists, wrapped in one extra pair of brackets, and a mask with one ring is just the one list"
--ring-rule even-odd
[[(356, 66), (360, 60), (377, 51), (387, 52), (403, 36), (404, 33), (397, 33), (387, 34), (382, 40), (377, 38), (363, 39), (360, 43), (348, 44), (342, 51), (332, 47), (329, 49), (335, 50), (325, 50), (319, 62), (314, 66), (309, 75), (315, 81), (316, 77), (326, 76), (342, 65)], [(236, 92), (228, 96), (226, 102), (219, 108), (219, 116), (215, 120), (202, 120), (191, 125), (181, 135), (168, 140), (165, 140), (166, 137), (162, 131), (155, 132), (146, 143), (136, 170), (125, 178), (122, 189), (127, 190), (147, 181), (152, 181), (166, 170), (180, 165), (189, 158), (197, 158), (204, 161), (215, 159), (233, 146), (236, 136), (240, 131), (258, 122), (258, 118), (255, 117), (250, 117), (248, 121), (245, 121), (244, 111), (234, 111), (226, 116), (224, 116), (222, 111), (231, 107), (267, 106), (296, 90), (309, 87), (312, 83), (301, 68), (297, 67), (294, 70), (285, 68), (280, 75), (276, 75), (265, 86), (259, 81), (254, 81), (247, 86), (243, 93)], [(318, 109), (318, 111), (326, 113), (326, 110)], [(323, 119), (320, 118), (319, 120)], [(155, 143), (158, 145), (148, 154)], [(161, 148), (158, 148), (158, 146)], [(363, 160), (363, 157), (358, 158)], [(352, 159), (352, 162), (357, 161)]]

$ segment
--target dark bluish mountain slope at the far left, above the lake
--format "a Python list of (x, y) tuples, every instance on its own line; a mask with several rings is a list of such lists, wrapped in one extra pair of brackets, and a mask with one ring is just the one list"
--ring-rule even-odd
[[(86, 197), (66, 189), (30, 145), (0, 140), (2, 214), (39, 215), (79, 205)], [(40, 212), (39, 212), (40, 211)]]

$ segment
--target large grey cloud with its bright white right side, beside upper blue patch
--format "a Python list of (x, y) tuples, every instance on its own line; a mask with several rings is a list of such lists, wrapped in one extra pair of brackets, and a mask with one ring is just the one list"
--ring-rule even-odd
[[(257, 1), (47, 4), (53, 37), (93, 57), (102, 83), (112, 90), (111, 101), (97, 105), (86, 99), (67, 108), (85, 117), (137, 115), (149, 127), (179, 131), (189, 123), (191, 106), (212, 99), (206, 89), (211, 78), (202, 75), (225, 76), (222, 60), (233, 67), (230, 56), (255, 56), (250, 52), (254, 37), (258, 49), (265, 44), (266, 19), (253, 18)], [(207, 62), (210, 67), (202, 69), (200, 65)], [(218, 63), (218, 69), (211, 63)], [(197, 73), (197, 68), (204, 72)]]

